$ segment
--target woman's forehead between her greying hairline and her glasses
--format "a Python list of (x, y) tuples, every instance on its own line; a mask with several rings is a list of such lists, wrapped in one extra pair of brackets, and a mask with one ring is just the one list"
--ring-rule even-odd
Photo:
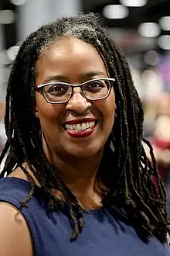
[[(91, 71), (107, 74), (97, 49), (76, 38), (63, 38), (51, 44), (36, 64), (38, 75), (60, 75), (68, 78)], [(50, 73), (50, 74), (49, 74)]]

